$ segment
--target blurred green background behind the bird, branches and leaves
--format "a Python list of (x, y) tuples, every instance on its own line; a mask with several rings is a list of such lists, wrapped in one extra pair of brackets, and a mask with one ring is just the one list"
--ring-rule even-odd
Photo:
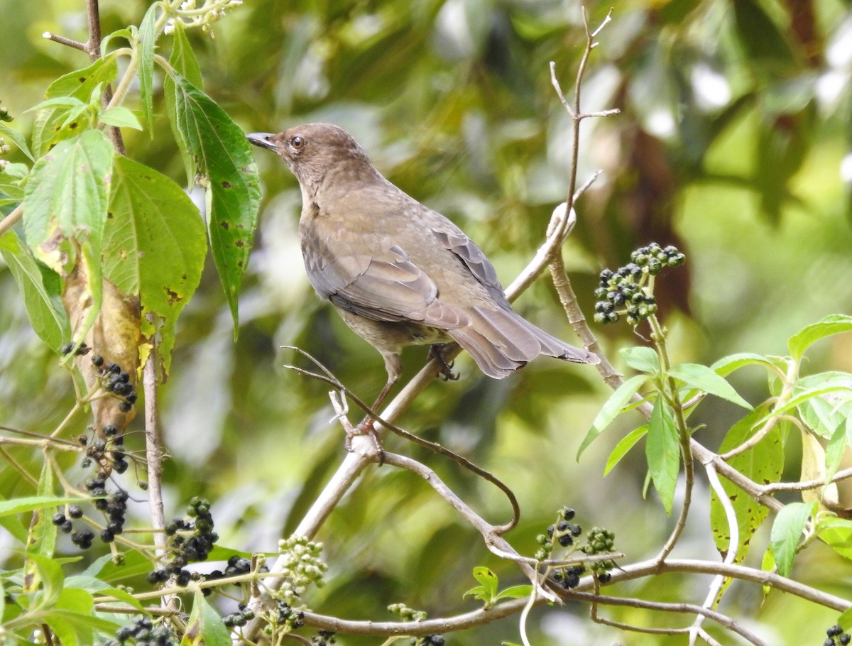
[[(25, 134), (44, 89), (60, 73), (87, 65), (80, 52), (51, 43), (56, 32), (85, 39), (82, 0), (0, 0), (0, 101)], [(579, 176), (604, 174), (578, 205), (566, 246), (567, 268), (587, 316), (604, 267), (627, 261), (652, 240), (674, 244), (686, 268), (659, 280), (673, 359), (710, 363), (734, 352), (784, 354), (786, 337), (823, 315), (852, 309), (852, 11), (833, 0), (657, 0), (587, 3), (596, 26), (613, 21), (590, 57), (586, 110), (621, 113), (583, 124)], [(138, 24), (145, 2), (105, 0), (105, 34)], [(246, 131), (278, 131), (331, 121), (352, 132), (389, 179), (451, 217), (491, 257), (508, 284), (544, 237), (564, 199), (570, 121), (550, 85), (549, 61), (573, 88), (584, 31), (580, 5), (549, 0), (252, 0), (216, 24), (215, 38), (192, 33), (204, 89)], [(167, 54), (170, 38), (159, 42)], [(131, 107), (136, 107), (132, 106)], [(148, 132), (126, 131), (128, 153), (184, 182), (181, 158), (158, 96)], [(16, 151), (6, 159), (23, 161)], [(259, 152), (262, 222), (240, 297), (239, 341), (212, 263), (179, 322), (172, 373), (161, 389), (167, 514), (193, 495), (214, 501), (222, 545), (273, 551), (296, 527), (343, 457), (343, 433), (324, 384), (286, 370), (306, 364), (281, 345), (325, 362), (362, 398), (380, 389), (379, 355), (314, 297), (296, 237), (296, 181)], [(8, 209), (7, 209), (8, 211)], [(55, 354), (37, 340), (9, 271), (0, 265), (0, 423), (49, 432), (72, 402), (72, 384)], [(516, 303), (550, 332), (573, 339), (547, 278)], [(645, 343), (625, 325), (596, 327), (607, 354)], [(808, 369), (849, 370), (852, 343), (833, 337)], [(424, 349), (403, 357), (406, 375)], [(467, 357), (462, 378), (435, 382), (400, 424), (469, 456), (517, 493), (521, 527), (507, 536), (524, 553), (563, 504), (585, 528), (616, 533), (627, 562), (652, 555), (672, 520), (655, 494), (642, 499), (641, 447), (606, 478), (609, 450), (630, 421), (607, 431), (579, 464), (574, 456), (607, 397), (586, 366), (538, 360), (503, 381), (484, 378)], [(761, 375), (736, 375), (751, 401), (766, 396)], [(697, 438), (717, 447), (739, 413), (706, 401)], [(76, 432), (82, 432), (80, 419)], [(141, 430), (141, 421), (133, 424)], [(141, 433), (128, 444), (143, 447)], [(389, 449), (435, 468), (494, 522), (504, 500), (456, 465), (389, 439)], [(789, 447), (797, 477), (797, 441)], [(37, 463), (33, 455), (32, 464)], [(26, 456), (21, 458), (26, 462)], [(125, 475), (127, 483), (134, 475)], [(0, 493), (25, 483), (5, 469)], [(136, 498), (141, 492), (136, 490)], [(709, 494), (699, 479), (696, 509), (677, 557), (717, 558), (706, 520)], [(145, 517), (140, 502), (137, 516)], [(0, 534), (2, 536), (2, 534)], [(371, 469), (320, 532), (330, 584), (312, 608), (350, 619), (386, 620), (403, 601), (430, 617), (475, 608), (463, 591), (484, 564), (501, 581), (521, 582), (492, 557), (478, 534), (414, 476)], [(757, 563), (766, 536), (752, 541)], [(69, 552), (73, 550), (69, 547)], [(852, 595), (852, 567), (814, 545), (794, 576)], [(619, 587), (625, 595), (701, 603), (706, 577), (668, 576)], [(836, 614), (755, 586), (734, 585), (722, 611), (746, 617), (770, 643), (820, 643)], [(606, 609), (646, 626), (683, 626), (684, 617)], [(803, 620), (806, 618), (806, 620)], [(520, 641), (516, 618), (448, 636), (452, 644)], [(581, 605), (538, 609), (533, 641), (554, 644), (666, 644), (659, 636), (596, 626)], [(708, 624), (708, 626), (710, 626)], [(715, 629), (714, 629), (715, 631)], [(733, 637), (714, 632), (722, 643)], [(342, 637), (338, 643), (379, 643)]]

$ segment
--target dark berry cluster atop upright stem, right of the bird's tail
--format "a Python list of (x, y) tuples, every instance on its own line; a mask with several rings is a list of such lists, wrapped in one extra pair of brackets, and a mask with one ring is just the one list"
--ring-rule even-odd
[(595, 290), (595, 322), (614, 323), (625, 315), (630, 325), (657, 312), (651, 278), (663, 268), (678, 267), (686, 257), (674, 246), (661, 248), (656, 242), (630, 254), (630, 262), (614, 271), (601, 272), (601, 286)]

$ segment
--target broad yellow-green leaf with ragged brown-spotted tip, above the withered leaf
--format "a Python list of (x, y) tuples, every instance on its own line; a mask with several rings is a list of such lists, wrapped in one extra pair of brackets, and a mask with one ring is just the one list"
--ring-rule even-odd
[[(109, 212), (104, 275), (119, 291), (140, 298), (142, 333), (152, 337), (155, 328), (160, 331), (168, 372), (177, 317), (204, 268), (204, 223), (181, 187), (127, 157), (115, 160)], [(149, 313), (155, 320), (148, 320)]]

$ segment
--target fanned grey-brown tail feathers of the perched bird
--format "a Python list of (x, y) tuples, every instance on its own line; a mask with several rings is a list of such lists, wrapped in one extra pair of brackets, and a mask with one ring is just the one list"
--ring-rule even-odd
[(467, 350), (489, 377), (502, 379), (538, 355), (596, 364), (600, 360), (533, 326), (506, 309), (465, 309), (470, 325), (447, 330), (453, 341)]

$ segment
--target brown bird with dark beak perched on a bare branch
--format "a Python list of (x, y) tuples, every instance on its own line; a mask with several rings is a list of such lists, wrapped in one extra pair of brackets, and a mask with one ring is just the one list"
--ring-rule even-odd
[(538, 355), (598, 363), (516, 314), (481, 249), (386, 180), (345, 130), (306, 124), (248, 139), (278, 153), (299, 181), (299, 235), (314, 290), (382, 353), (388, 383), (373, 410), (413, 343), (455, 341), (497, 379)]

